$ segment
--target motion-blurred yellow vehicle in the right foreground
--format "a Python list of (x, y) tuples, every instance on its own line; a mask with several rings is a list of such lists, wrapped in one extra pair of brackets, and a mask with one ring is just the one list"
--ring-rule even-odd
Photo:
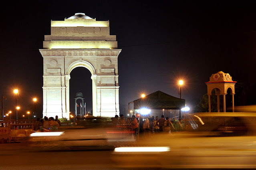
[(256, 168), (256, 113), (186, 114), (185, 130), (143, 136), (112, 158), (119, 168)]

